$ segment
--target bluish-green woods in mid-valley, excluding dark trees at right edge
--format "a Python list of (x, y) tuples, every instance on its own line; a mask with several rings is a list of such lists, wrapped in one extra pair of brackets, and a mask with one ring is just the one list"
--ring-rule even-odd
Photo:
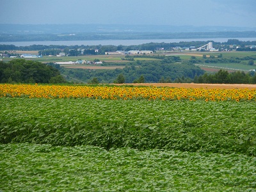
[(120, 81), (117, 77), (122, 74), (124, 83), (157, 83), (160, 79), (175, 81), (178, 77), (193, 79), (204, 74), (204, 70), (190, 63), (175, 62), (177, 57), (167, 57), (161, 61), (136, 61), (127, 63), (124, 68), (115, 70), (81, 70), (61, 68), (61, 73), (68, 78), (79, 79), (85, 83), (91, 83), (97, 78), (99, 83), (113, 83)]

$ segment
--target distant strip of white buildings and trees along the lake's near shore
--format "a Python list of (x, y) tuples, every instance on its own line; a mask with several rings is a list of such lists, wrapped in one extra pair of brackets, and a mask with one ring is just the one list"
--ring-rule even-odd
[[(23, 51), (20, 53), (19, 51)], [(30, 54), (34, 51), (35, 54)], [(228, 40), (228, 42), (179, 42), (150, 43), (142, 45), (0, 45), (0, 58), (41, 58), (43, 56), (83, 56), (83, 55), (118, 55), (118, 54), (153, 54), (164, 52), (217, 52), (217, 51), (256, 51), (256, 42)], [(36, 54), (37, 53), (37, 54)], [(84, 61), (86, 62), (86, 61)]]

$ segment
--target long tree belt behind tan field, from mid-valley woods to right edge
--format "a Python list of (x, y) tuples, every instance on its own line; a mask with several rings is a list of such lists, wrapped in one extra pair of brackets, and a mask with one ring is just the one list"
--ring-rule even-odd
[(90, 71), (64, 69), (67, 76), (76, 77), (87, 83), (226, 83), (256, 84), (255, 72), (236, 71), (229, 73), (219, 70), (216, 74), (207, 74), (190, 64), (177, 63), (141, 63), (140, 66), (127, 65), (123, 69), (108, 71)]

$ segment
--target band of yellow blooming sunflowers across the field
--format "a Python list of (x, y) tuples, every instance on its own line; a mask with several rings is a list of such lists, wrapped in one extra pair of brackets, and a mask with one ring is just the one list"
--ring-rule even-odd
[(255, 89), (169, 88), (156, 86), (59, 86), (38, 84), (0, 84), (0, 97), (90, 98), (111, 100), (256, 100)]

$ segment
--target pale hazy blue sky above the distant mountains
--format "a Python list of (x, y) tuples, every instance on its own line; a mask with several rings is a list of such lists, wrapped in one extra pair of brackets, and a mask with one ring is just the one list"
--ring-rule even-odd
[(256, 26), (256, 0), (1, 0), (2, 24)]

